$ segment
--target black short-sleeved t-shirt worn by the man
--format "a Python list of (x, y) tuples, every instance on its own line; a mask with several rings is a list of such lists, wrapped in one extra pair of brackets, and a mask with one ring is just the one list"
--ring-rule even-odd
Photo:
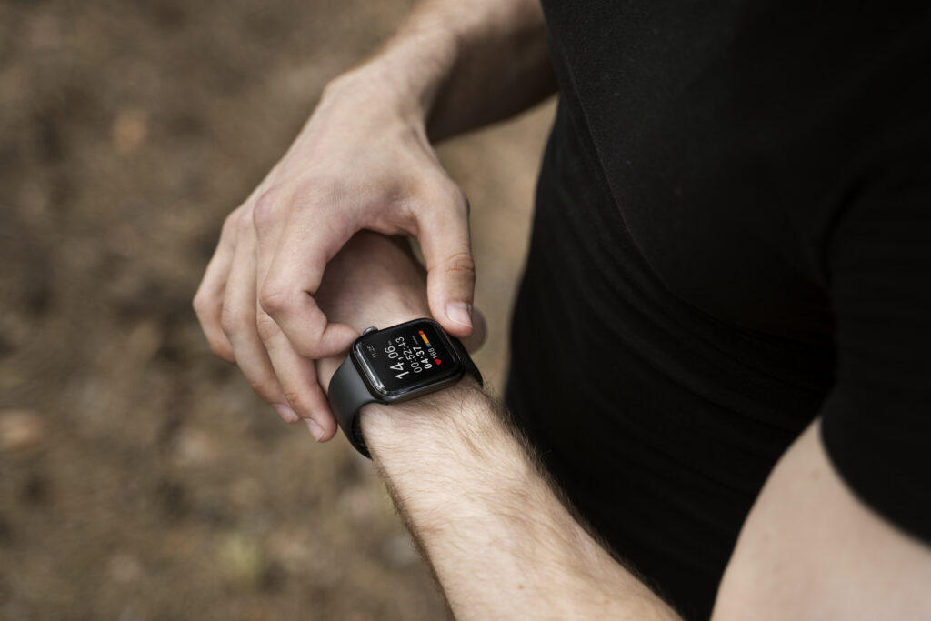
[(931, 14), (544, 0), (560, 105), (510, 408), (573, 504), (707, 617), (776, 460), (931, 540)]

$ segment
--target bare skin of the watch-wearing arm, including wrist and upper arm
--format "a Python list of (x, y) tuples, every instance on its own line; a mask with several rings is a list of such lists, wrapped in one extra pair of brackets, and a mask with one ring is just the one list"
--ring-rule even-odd
[[(320, 304), (357, 329), (428, 310), (421, 268), (403, 245), (362, 234), (331, 265)], [(340, 362), (320, 361), (327, 383)], [(679, 618), (574, 518), (471, 378), (361, 416), (375, 466), (456, 618)], [(713, 618), (931, 618), (931, 549), (849, 492), (818, 425), (762, 488)]]

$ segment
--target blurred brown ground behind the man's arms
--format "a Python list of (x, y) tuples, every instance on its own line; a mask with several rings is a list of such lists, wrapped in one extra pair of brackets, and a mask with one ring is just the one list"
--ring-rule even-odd
[[(0, 0), (0, 618), (411, 619), (371, 466), (214, 358), (223, 217), (408, 0)], [(500, 390), (547, 103), (444, 145)]]

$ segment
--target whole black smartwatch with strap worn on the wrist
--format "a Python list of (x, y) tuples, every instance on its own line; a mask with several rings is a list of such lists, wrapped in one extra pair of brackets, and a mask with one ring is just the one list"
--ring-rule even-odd
[(330, 406), (354, 447), (371, 459), (358, 412), (367, 403), (398, 403), (422, 397), (479, 369), (458, 339), (432, 319), (414, 319), (362, 332), (330, 381)]

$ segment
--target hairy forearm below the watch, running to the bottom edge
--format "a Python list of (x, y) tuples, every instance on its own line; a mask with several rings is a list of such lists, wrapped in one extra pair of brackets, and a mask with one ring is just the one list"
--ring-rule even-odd
[(474, 383), (362, 428), (457, 618), (674, 618), (560, 503)]

